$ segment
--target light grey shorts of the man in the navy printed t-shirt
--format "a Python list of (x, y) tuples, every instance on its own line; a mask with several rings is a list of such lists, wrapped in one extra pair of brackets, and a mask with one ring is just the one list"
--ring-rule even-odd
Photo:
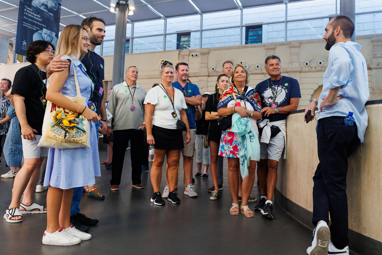
[(260, 142), (260, 159), (273, 159), (279, 161), (285, 146), (284, 134), (279, 132), (269, 140), (269, 143)]

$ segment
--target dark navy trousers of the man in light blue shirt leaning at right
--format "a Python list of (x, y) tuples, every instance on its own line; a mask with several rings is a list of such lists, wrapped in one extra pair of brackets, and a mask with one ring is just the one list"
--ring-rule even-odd
[(360, 143), (357, 126), (345, 126), (344, 117), (328, 117), (318, 121), (317, 145), (320, 163), (313, 181), (313, 225), (324, 220), (330, 226), (334, 245), (347, 246), (348, 197), (346, 175), (348, 157)]

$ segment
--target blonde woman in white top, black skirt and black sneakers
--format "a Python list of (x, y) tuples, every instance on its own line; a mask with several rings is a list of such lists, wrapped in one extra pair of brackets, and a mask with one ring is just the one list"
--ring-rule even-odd
[(153, 185), (154, 195), (150, 199), (154, 205), (164, 205), (160, 193), (162, 178), (162, 166), (167, 157), (167, 181), (169, 183), (168, 201), (180, 204), (181, 200), (175, 193), (175, 185), (178, 179), (178, 161), (181, 149), (184, 148), (182, 130), (177, 129), (178, 120), (183, 121), (187, 127), (185, 142), (191, 140), (189, 122), (185, 109), (187, 109), (185, 97), (180, 90), (174, 89), (173, 64), (169, 61), (161, 61), (160, 75), (162, 84), (147, 92), (145, 102), (145, 123), (147, 131), (147, 143), (155, 145), (154, 161), (151, 167), (150, 178)]

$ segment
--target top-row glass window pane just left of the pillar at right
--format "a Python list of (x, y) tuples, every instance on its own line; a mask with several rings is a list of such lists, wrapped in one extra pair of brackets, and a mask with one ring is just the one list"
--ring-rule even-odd
[(336, 15), (335, 0), (312, 0), (288, 3), (288, 20)]

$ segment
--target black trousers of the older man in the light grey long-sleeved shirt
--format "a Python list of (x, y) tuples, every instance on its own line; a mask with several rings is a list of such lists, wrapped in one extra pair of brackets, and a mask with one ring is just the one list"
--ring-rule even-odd
[(111, 185), (121, 183), (123, 160), (127, 144), (131, 143), (131, 181), (133, 184), (141, 183), (143, 131), (136, 129), (114, 130), (113, 163), (111, 165)]

